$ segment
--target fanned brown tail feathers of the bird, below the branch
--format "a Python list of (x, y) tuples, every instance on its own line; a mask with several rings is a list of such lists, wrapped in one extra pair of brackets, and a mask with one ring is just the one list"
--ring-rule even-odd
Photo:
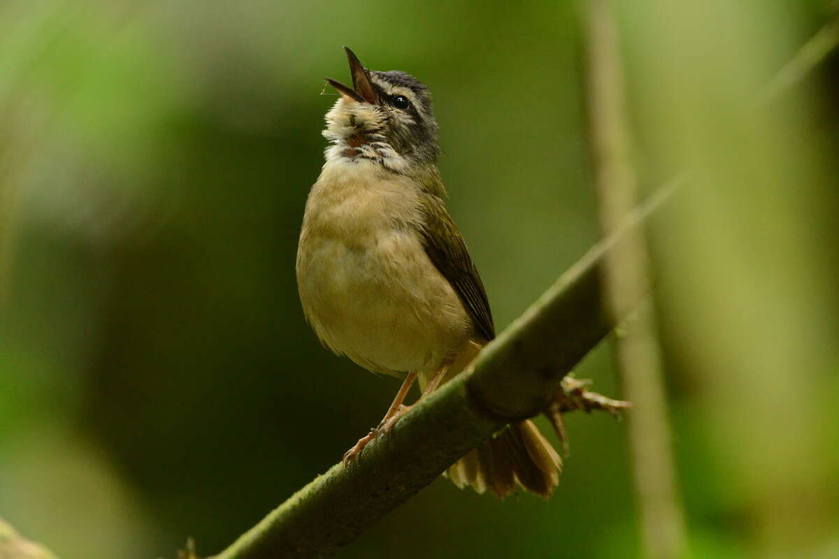
[(530, 420), (513, 423), (447, 471), (454, 484), (506, 497), (518, 487), (548, 497), (560, 481), (562, 460)]

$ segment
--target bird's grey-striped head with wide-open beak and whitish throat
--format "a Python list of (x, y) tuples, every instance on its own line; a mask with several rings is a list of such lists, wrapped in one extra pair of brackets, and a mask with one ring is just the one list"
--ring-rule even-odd
[(373, 161), (404, 174), (435, 167), (440, 148), (428, 88), (404, 72), (367, 70), (344, 50), (352, 88), (326, 78), (341, 94), (326, 113), (327, 162)]

